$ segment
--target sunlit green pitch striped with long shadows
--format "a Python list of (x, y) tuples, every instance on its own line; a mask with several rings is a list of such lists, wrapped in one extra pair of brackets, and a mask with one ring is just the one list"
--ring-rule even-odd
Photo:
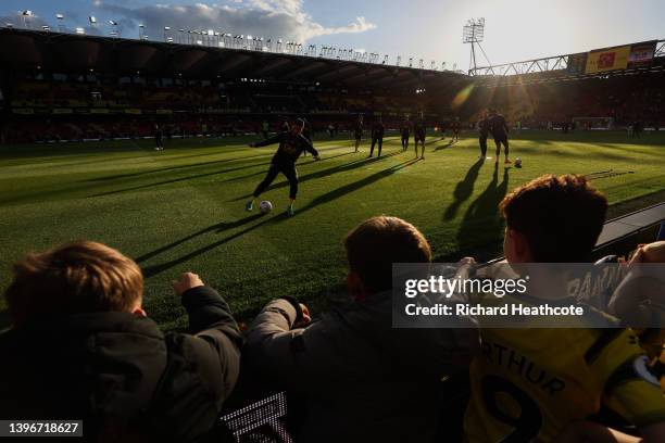
[(355, 154), (350, 140), (322, 136), (315, 144), (324, 160), (299, 162), (292, 218), (280, 215), (284, 177), (263, 195), (276, 211), (244, 213), (275, 149), (246, 148), (252, 138), (172, 141), (163, 152), (149, 140), (0, 148), (0, 287), (28, 251), (98, 240), (139, 262), (149, 313), (173, 328), (181, 325), (183, 311), (170, 282), (186, 270), (221, 290), (241, 316), (279, 295), (319, 304), (339, 293), (341, 239), (373, 215), (412, 221), (437, 256), (454, 257), (495, 245), (503, 229), (497, 204), (541, 174), (604, 173), (595, 185), (612, 204), (665, 189), (665, 134), (637, 142), (623, 132), (513, 137), (522, 169), (476, 163), (472, 132), (451, 145), (430, 137), (426, 160), (418, 162), (412, 150), (401, 152), (397, 137), (387, 138), (380, 160), (367, 160), (366, 143)]

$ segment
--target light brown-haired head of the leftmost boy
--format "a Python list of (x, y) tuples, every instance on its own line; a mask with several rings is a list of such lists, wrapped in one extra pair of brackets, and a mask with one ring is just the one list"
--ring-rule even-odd
[(77, 241), (14, 265), (14, 280), (4, 296), (14, 325), (39, 318), (141, 308), (143, 276), (138, 265), (118, 251), (91, 241)]

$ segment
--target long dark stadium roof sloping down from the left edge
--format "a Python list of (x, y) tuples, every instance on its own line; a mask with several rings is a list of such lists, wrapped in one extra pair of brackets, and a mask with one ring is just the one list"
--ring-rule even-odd
[(0, 28), (0, 64), (9, 71), (187, 78), (265, 78), (347, 88), (438, 90), (469, 77), (351, 60), (246, 49)]

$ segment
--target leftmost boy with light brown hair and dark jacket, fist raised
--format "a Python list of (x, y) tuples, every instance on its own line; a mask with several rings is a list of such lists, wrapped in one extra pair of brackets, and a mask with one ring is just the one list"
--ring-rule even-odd
[(14, 266), (0, 336), (0, 417), (83, 419), (86, 441), (186, 442), (206, 434), (239, 372), (226, 302), (195, 274), (173, 283), (190, 333), (161, 332), (142, 308), (137, 264), (78, 241)]

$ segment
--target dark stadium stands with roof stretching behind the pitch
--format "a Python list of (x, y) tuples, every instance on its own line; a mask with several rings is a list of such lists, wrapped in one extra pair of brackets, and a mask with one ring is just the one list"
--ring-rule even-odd
[[(349, 129), (357, 114), (381, 115), (389, 128), (419, 114), (430, 128), (456, 116), (472, 126), (490, 106), (526, 126), (575, 118), (665, 124), (663, 41), (469, 75), (198, 43), (0, 28), (0, 140), (147, 136), (154, 123), (181, 136), (255, 132), (262, 122), (277, 126), (296, 115), (314, 130)], [(590, 94), (610, 99), (598, 103)]]

